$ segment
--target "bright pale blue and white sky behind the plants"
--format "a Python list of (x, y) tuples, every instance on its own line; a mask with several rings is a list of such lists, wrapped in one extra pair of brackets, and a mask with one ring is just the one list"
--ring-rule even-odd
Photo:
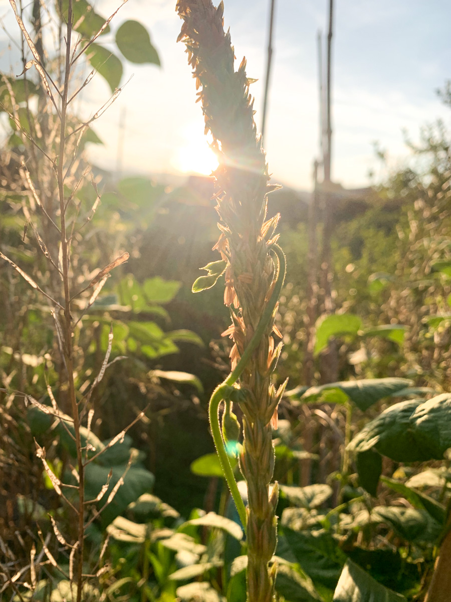
[[(96, 0), (94, 5), (107, 16), (118, 4)], [(0, 16), (12, 33), (16, 23), (7, 0), (0, 0)], [(268, 16), (269, 0), (224, 0), (225, 27), (230, 27), (237, 67), (245, 55), (248, 76), (258, 79), (251, 85), (258, 128)], [(96, 122), (94, 129), (105, 146), (91, 145), (91, 159), (101, 167), (117, 168), (122, 119), (122, 172), (209, 173), (215, 159), (203, 135), (185, 48), (176, 44), (182, 22), (175, 0), (129, 0), (112, 22), (113, 29), (126, 19), (146, 25), (162, 66), (126, 64), (123, 81), (132, 74), (133, 78)], [(300, 190), (311, 189), (313, 160), (319, 154), (316, 36), (319, 29), (327, 34), (327, 20), (328, 0), (276, 0), (265, 148), (273, 180)], [(395, 169), (408, 160), (403, 131), (415, 141), (421, 126), (439, 117), (451, 125), (451, 112), (436, 93), (451, 79), (450, 22), (449, 0), (334, 0), (334, 181), (346, 187), (368, 185), (369, 171), (378, 173), (375, 141)], [(108, 42), (108, 36), (102, 42)], [(10, 63), (6, 46), (0, 30), (2, 69)], [(85, 88), (78, 110), (88, 117), (108, 96), (108, 85), (97, 76)]]

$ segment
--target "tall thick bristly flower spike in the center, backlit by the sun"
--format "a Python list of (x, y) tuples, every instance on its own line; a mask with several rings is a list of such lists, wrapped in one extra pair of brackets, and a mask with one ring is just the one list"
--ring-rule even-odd
[[(230, 353), (232, 374), (224, 385), (233, 384), (235, 378), (231, 377), (237, 368), (239, 371), (240, 394), (236, 397), (244, 422), (239, 459), (248, 487), (245, 525), (248, 600), (269, 602), (274, 597), (275, 566), (269, 569), (268, 563), (277, 541), (278, 497), (277, 483), (270, 485), (274, 470), (271, 423), (277, 421), (277, 405), (283, 393), (283, 386), (276, 392), (271, 383), (281, 351), (281, 343), (276, 345), (273, 337), (273, 332), (280, 336), (274, 326), (277, 300), (273, 293), (274, 290), (277, 296), (280, 293), (283, 276), (282, 279), (276, 276), (271, 258), (271, 250), (276, 251), (278, 236), (274, 231), (279, 216), (266, 219), (266, 195), (277, 187), (269, 185), (265, 153), (253, 119), (251, 80), (245, 73), (245, 60), (238, 71), (234, 69), (230, 35), (224, 32), (222, 2), (215, 8), (210, 0), (179, 0), (177, 10), (183, 19), (179, 40), (186, 44), (196, 87), (200, 88), (198, 96), (205, 132), (212, 133), (212, 147), (219, 160), (215, 176), (221, 234), (213, 248), (221, 253), (224, 262), (224, 302), (232, 315), (232, 324), (223, 333), (230, 335), (234, 342)], [(278, 249), (276, 254), (281, 267), (283, 253)], [(212, 265), (207, 266), (210, 276), (205, 278), (214, 281)], [(256, 332), (258, 337), (254, 336)], [(246, 353), (246, 361), (241, 362), (249, 347), (252, 352)], [(213, 396), (225, 395), (224, 385), (219, 386)], [(229, 402), (227, 405), (230, 408)], [(216, 418), (211, 408), (210, 405), (215, 435)], [(217, 417), (216, 407), (215, 411)], [(220, 448), (224, 443), (220, 436), (215, 436), (215, 443), (221, 457)], [(227, 480), (234, 495), (233, 483)]]

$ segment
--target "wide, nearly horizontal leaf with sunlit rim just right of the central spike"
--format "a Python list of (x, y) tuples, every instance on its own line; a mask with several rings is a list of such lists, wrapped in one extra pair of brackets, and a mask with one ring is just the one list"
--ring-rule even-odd
[[(305, 391), (302, 399), (310, 400), (324, 398), (325, 391), (333, 389), (333, 394), (327, 397), (329, 403), (343, 403), (345, 399), (337, 393), (336, 389), (345, 393), (346, 399), (350, 399), (363, 412), (370, 408), (373, 404), (383, 399), (394, 395), (397, 391), (405, 389), (411, 384), (411, 380), (388, 377), (378, 379), (362, 379), (362, 380), (342, 380), (340, 382), (331, 382), (327, 385), (312, 386)], [(334, 399), (336, 397), (336, 399)]]

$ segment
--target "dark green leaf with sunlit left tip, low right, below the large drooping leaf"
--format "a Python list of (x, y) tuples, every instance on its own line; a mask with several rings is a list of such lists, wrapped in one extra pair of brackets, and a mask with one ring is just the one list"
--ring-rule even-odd
[(435, 544), (440, 536), (441, 525), (426, 510), (404, 506), (375, 506), (369, 514), (361, 510), (355, 516), (354, 524), (385, 523), (405, 541)]

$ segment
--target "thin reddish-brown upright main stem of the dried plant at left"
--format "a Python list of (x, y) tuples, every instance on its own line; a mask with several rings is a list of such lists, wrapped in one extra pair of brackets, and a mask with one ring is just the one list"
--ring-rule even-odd
[(84, 544), (84, 465), (82, 456), (82, 441), (80, 436), (80, 423), (78, 414), (78, 404), (75, 395), (75, 382), (73, 379), (73, 345), (72, 345), (72, 324), (70, 312), (70, 286), (69, 286), (69, 244), (66, 236), (66, 202), (64, 200), (64, 149), (66, 143), (66, 115), (67, 115), (67, 94), (69, 91), (70, 78), (70, 42), (72, 37), (72, 0), (69, 0), (67, 14), (67, 35), (66, 35), (66, 70), (64, 73), (64, 88), (61, 99), (61, 117), (60, 117), (60, 152), (58, 156), (57, 179), (58, 196), (60, 200), (61, 214), (61, 253), (63, 255), (63, 285), (64, 285), (64, 350), (67, 365), (67, 380), (69, 385), (70, 406), (72, 409), (73, 426), (75, 430), (75, 446), (77, 452), (78, 475), (79, 475), (79, 495), (78, 495), (78, 565), (76, 570), (77, 583), (77, 602), (81, 601), (82, 594), (82, 567), (83, 567), (83, 544)]

